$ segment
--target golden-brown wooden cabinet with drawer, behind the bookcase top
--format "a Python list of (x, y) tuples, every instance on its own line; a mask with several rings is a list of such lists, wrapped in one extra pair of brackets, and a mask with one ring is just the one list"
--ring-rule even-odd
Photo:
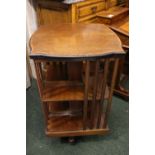
[(105, 0), (85, 0), (72, 4), (60, 1), (37, 1), (38, 25), (52, 23), (92, 23), (106, 8)]

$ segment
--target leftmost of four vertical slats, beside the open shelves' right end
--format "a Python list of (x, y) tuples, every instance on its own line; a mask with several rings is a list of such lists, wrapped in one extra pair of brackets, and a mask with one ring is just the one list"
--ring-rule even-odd
[(83, 106), (83, 129), (84, 130), (87, 128), (89, 70), (90, 70), (90, 62), (89, 61), (86, 61), (84, 106)]

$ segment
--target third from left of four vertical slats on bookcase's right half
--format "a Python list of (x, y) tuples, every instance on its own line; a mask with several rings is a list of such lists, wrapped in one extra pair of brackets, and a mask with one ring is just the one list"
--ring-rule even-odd
[(104, 65), (102, 87), (101, 87), (101, 100), (99, 102), (99, 116), (98, 116), (98, 123), (97, 123), (98, 128), (100, 127), (101, 117), (103, 113), (103, 104), (104, 104), (104, 96), (105, 96), (105, 90), (106, 90), (106, 84), (107, 84), (108, 68), (109, 68), (109, 59), (106, 59), (105, 65)]

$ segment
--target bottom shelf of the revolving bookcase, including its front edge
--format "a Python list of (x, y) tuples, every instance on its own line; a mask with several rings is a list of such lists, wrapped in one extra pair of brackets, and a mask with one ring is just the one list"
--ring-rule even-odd
[(52, 137), (104, 135), (109, 132), (109, 128), (86, 129), (83, 130), (83, 119), (79, 117), (51, 117), (48, 119), (46, 135)]

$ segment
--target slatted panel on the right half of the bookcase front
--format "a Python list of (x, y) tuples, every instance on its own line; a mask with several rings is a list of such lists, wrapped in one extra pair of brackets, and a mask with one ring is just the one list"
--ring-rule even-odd
[[(87, 119), (87, 122), (90, 123), (90, 129), (102, 129), (107, 127), (107, 120), (109, 117), (110, 109), (111, 109), (111, 103), (112, 103), (112, 96), (113, 96), (113, 89), (115, 86), (116, 81), (116, 74), (117, 74), (117, 68), (119, 59), (113, 59), (114, 61), (114, 67), (111, 70), (111, 63), (110, 58), (102, 60), (104, 62), (104, 65), (100, 65), (100, 60), (97, 60), (95, 62), (95, 70), (94, 70), (94, 79), (93, 79), (93, 97), (92, 97), (92, 104), (91, 104), (91, 110), (90, 110), (90, 118), (85, 117)], [(87, 63), (88, 65), (88, 63)], [(111, 81), (110, 85), (108, 85), (109, 82), (109, 73), (112, 71)], [(99, 78), (99, 74), (102, 74), (102, 78)], [(89, 73), (88, 73), (88, 66), (86, 66), (86, 85), (85, 85), (85, 97), (88, 96), (89, 89), (87, 86), (87, 83), (89, 82)], [(106, 87), (109, 87), (109, 98), (107, 100), (107, 104), (104, 105), (105, 102), (105, 93), (106, 93)], [(97, 100), (98, 96), (98, 89), (100, 89), (100, 100)], [(87, 90), (87, 91), (86, 91)], [(85, 102), (87, 107), (87, 100), (85, 98)], [(85, 109), (86, 110), (86, 109)], [(87, 109), (88, 110), (88, 109)], [(85, 112), (86, 113), (86, 112)], [(88, 113), (88, 111), (87, 111)], [(90, 119), (90, 120), (89, 120)]]

